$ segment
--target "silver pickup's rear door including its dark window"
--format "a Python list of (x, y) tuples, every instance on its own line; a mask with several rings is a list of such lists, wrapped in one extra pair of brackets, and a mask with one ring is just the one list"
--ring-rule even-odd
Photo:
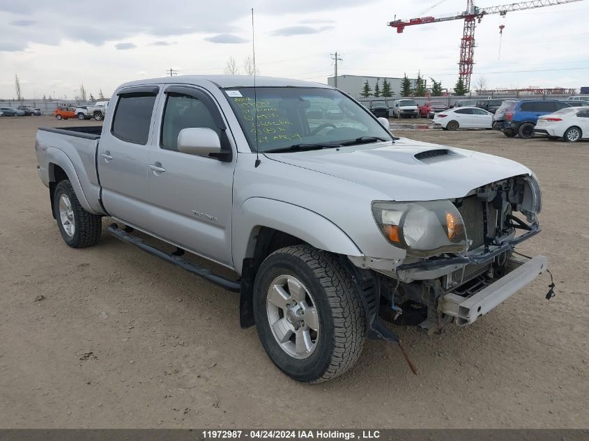
[(158, 86), (121, 89), (109, 130), (102, 130), (98, 143), (102, 203), (112, 216), (140, 229), (149, 226), (147, 153), (159, 90)]

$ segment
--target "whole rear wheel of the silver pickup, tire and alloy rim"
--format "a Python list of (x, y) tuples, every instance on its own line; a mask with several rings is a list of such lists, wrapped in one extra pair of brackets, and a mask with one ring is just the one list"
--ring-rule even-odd
[(72, 248), (91, 247), (100, 239), (102, 218), (82, 208), (69, 180), (55, 187), (54, 210), (63, 240)]

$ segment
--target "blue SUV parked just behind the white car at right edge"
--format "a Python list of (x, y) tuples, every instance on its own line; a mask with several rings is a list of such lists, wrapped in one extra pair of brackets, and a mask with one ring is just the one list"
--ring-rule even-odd
[(494, 127), (501, 130), (506, 137), (518, 135), (520, 138), (528, 139), (534, 136), (534, 127), (538, 116), (551, 114), (557, 110), (571, 107), (562, 101), (554, 100), (528, 100), (506, 102), (501, 106), (501, 116), (496, 118)]

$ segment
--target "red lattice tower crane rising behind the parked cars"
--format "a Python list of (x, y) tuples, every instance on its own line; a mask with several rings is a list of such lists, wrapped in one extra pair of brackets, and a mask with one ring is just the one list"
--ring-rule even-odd
[[(533, 8), (543, 8), (544, 6), (555, 6), (563, 3), (572, 3), (581, 0), (535, 0), (522, 1), (521, 3), (511, 3), (502, 6), (491, 6), (490, 8), (477, 8), (474, 0), (466, 0), (466, 10), (454, 15), (442, 17), (419, 17), (411, 20), (395, 20), (389, 22), (388, 26), (397, 28), (397, 33), (404, 31), (406, 26), (415, 26), (416, 24), (427, 24), (437, 22), (449, 22), (450, 20), (464, 20), (464, 33), (460, 43), (460, 61), (458, 63), (458, 75), (464, 83), (466, 90), (471, 88), (471, 75), (473, 74), (473, 57), (475, 54), (475, 24), (480, 23), (482, 17), (489, 14), (499, 14), (502, 17), (514, 10), (526, 10)], [(437, 4), (437, 3), (436, 3)], [(500, 29), (503, 31), (503, 28)]]

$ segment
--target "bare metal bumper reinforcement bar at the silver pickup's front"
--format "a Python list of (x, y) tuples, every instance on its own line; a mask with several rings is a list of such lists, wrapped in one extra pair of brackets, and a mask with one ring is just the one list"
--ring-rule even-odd
[(443, 314), (454, 316), (457, 325), (470, 325), (517, 293), (547, 268), (548, 258), (536, 256), (471, 297), (461, 297), (453, 293), (444, 295), (440, 300), (439, 308)]

